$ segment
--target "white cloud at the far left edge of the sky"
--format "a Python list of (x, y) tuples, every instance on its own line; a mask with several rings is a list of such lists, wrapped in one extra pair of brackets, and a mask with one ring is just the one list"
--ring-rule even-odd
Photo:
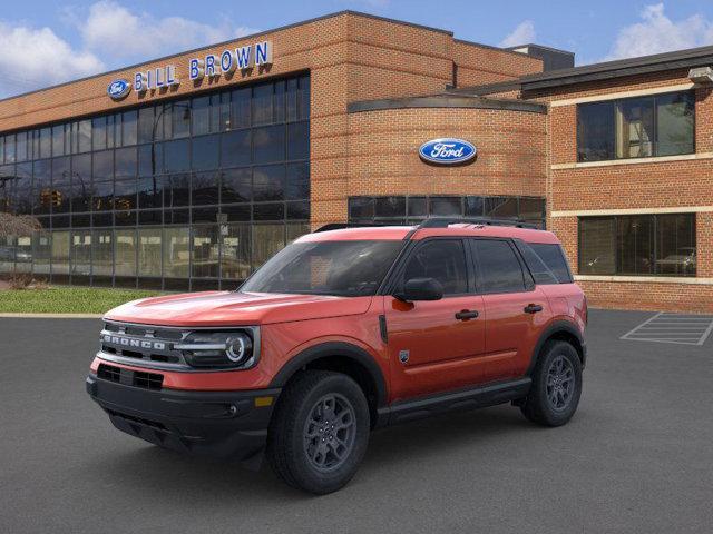
[(104, 62), (49, 28), (0, 22), (0, 98), (99, 72)]

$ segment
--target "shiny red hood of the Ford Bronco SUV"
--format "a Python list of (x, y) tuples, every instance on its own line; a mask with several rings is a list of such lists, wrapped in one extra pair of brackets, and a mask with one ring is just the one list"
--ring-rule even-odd
[(371, 297), (206, 291), (134, 300), (105, 318), (162, 326), (267, 325), (364, 314), (370, 303)]

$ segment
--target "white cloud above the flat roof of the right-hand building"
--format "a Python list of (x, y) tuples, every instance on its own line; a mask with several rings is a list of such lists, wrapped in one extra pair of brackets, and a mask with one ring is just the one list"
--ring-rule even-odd
[(662, 2), (646, 6), (641, 18), (641, 22), (619, 30), (614, 46), (604, 60), (633, 58), (713, 43), (713, 21), (701, 14), (674, 21), (666, 17)]

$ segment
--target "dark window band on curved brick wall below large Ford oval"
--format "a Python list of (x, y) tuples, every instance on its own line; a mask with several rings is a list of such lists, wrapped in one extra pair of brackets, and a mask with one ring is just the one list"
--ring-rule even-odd
[(350, 222), (418, 224), (429, 217), (514, 219), (545, 228), (545, 199), (539, 197), (399, 196), (350, 197)]

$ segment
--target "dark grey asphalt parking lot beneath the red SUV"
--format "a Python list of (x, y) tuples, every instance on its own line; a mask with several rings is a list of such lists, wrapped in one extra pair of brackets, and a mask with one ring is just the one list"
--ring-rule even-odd
[(590, 313), (569, 425), (499, 406), (379, 431), (324, 497), (115, 431), (84, 386), (98, 320), (0, 318), (0, 531), (710, 532), (713, 339), (619, 339), (652, 315)]

